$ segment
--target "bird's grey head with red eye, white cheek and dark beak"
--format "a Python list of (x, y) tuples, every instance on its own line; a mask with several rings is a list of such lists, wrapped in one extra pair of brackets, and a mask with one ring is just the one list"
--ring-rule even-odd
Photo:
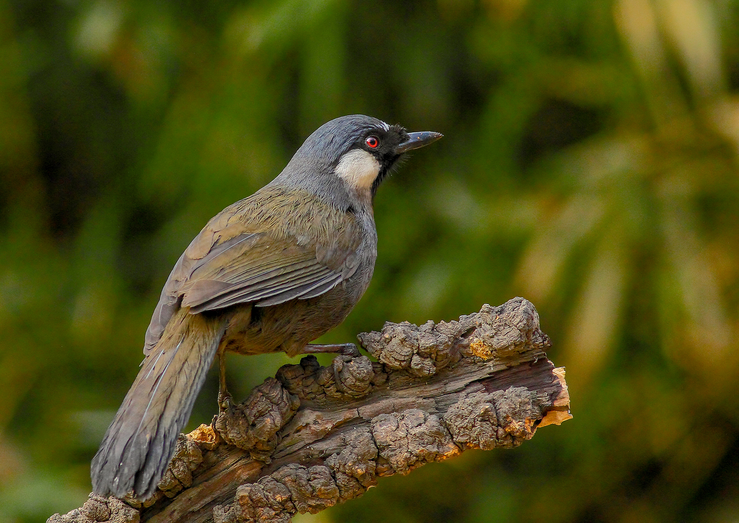
[(407, 132), (371, 116), (341, 116), (316, 129), (282, 175), (287, 173), (292, 181), (313, 192), (342, 188), (371, 203), (378, 186), (404, 153), (442, 136), (430, 131)]

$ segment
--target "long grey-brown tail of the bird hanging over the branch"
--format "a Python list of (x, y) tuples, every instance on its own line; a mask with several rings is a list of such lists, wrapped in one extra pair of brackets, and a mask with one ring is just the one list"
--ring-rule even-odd
[(222, 317), (188, 311), (171, 318), (105, 433), (90, 470), (96, 494), (147, 499), (162, 479), (225, 330)]

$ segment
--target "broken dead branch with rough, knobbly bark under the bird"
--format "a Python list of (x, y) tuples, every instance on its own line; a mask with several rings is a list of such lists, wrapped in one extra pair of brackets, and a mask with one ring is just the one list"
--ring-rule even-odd
[(290, 522), (466, 449), (511, 448), (569, 414), (563, 368), (534, 306), (514, 298), (459, 321), (386, 323), (365, 356), (284, 365), (211, 425), (180, 434), (146, 502), (90, 496), (49, 523)]

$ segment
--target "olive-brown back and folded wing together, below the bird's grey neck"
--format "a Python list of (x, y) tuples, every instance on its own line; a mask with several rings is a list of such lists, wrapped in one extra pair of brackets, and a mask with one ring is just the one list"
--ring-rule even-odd
[[(268, 198), (282, 206), (264, 206)], [(324, 210), (317, 212), (319, 206)], [(151, 318), (144, 352), (157, 345), (180, 306), (195, 314), (237, 303), (277, 305), (330, 291), (358, 268), (357, 227), (353, 215), (280, 188), (267, 187), (224, 209), (177, 260)]]

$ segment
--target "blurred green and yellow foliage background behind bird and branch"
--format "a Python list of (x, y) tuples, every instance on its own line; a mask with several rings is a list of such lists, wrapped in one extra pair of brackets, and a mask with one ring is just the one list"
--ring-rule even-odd
[(445, 138), (324, 340), (527, 297), (575, 417), (296, 521), (739, 521), (731, 0), (0, 0), (0, 521), (84, 502), (174, 261), (350, 113)]

